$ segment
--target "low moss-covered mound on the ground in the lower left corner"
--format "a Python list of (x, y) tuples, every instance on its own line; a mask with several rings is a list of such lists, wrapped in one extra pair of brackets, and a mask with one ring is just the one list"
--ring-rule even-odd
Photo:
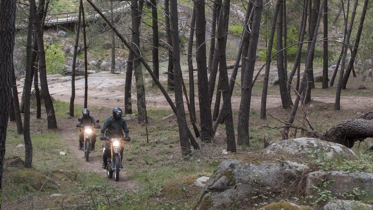
[[(33, 189), (39, 190), (44, 182), (48, 186), (56, 185), (56, 182), (35, 169), (21, 169), (9, 174), (10, 180), (18, 185), (29, 184)], [(44, 185), (46, 187), (46, 185)]]

